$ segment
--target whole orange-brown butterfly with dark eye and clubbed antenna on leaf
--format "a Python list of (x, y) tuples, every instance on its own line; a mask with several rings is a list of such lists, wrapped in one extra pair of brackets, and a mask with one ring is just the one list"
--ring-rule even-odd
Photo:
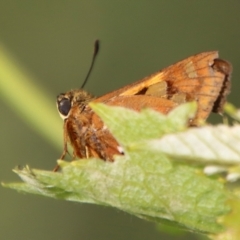
[[(99, 49), (95, 43), (94, 59)], [(221, 113), (230, 92), (231, 65), (218, 58), (218, 52), (203, 52), (188, 57), (140, 81), (96, 98), (85, 90), (61, 93), (57, 97), (59, 114), (64, 119), (64, 151), (68, 142), (74, 158), (97, 157), (113, 161), (123, 154), (119, 144), (90, 108), (90, 102), (122, 106), (136, 111), (152, 108), (167, 114), (176, 106), (196, 101), (197, 113), (190, 125), (197, 126), (211, 112)], [(58, 167), (55, 168), (57, 170)]]

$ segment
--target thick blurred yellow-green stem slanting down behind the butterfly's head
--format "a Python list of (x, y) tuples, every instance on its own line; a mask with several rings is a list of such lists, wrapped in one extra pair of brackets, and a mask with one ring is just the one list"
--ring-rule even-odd
[(36, 82), (0, 44), (0, 96), (40, 135), (62, 148), (62, 123), (54, 98), (50, 101)]

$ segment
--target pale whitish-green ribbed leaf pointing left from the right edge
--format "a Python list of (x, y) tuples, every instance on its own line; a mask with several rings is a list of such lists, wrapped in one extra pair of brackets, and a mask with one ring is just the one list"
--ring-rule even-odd
[(165, 153), (177, 160), (202, 164), (240, 164), (240, 126), (218, 125), (190, 128), (161, 139), (140, 144), (139, 148)]

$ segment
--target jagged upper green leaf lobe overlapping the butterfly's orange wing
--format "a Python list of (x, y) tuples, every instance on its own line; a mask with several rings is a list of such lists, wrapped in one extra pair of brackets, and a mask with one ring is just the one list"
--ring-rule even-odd
[(183, 104), (168, 115), (152, 109), (144, 109), (141, 114), (123, 107), (108, 107), (104, 104), (90, 104), (101, 117), (115, 138), (122, 145), (139, 140), (160, 138), (164, 134), (183, 131), (196, 112), (196, 103)]

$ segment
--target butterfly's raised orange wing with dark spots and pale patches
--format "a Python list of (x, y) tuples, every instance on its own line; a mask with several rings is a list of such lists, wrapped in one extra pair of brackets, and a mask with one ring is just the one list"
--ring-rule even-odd
[[(215, 61), (221, 61), (225, 71), (221, 67), (216, 67)], [(163, 113), (168, 112), (166, 105), (174, 107), (183, 102), (197, 101), (198, 111), (191, 124), (198, 125), (208, 117), (212, 110), (218, 109), (215, 112), (221, 112), (226, 95), (229, 93), (230, 74), (231, 65), (224, 60), (219, 60), (216, 51), (204, 52), (186, 58), (136, 83), (106, 94), (96, 101), (117, 106), (121, 105), (122, 102), (122, 106), (135, 110), (139, 110), (141, 107), (150, 107)], [(225, 85), (227, 87), (223, 89)], [(149, 98), (147, 101), (147, 98), (142, 97), (143, 103), (141, 101), (137, 107), (136, 104), (130, 103), (135, 98), (129, 96), (134, 95), (157, 96), (161, 99), (168, 99), (171, 103), (166, 104), (166, 101), (163, 102), (157, 98)], [(123, 96), (128, 97), (124, 100)], [(217, 103), (217, 99), (219, 103)], [(214, 107), (215, 103), (217, 106)]]

